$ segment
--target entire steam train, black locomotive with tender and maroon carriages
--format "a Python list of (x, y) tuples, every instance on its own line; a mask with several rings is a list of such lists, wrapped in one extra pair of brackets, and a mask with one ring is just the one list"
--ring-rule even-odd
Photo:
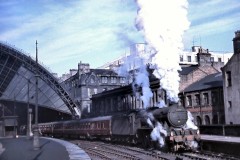
[[(187, 120), (187, 110), (172, 104), (169, 107), (132, 110), (111, 116), (42, 123), (39, 128), (45, 136), (101, 139), (178, 151), (193, 149), (200, 139), (197, 129), (186, 128)], [(153, 141), (153, 132), (161, 138), (155, 140), (162, 141), (164, 145)]]

